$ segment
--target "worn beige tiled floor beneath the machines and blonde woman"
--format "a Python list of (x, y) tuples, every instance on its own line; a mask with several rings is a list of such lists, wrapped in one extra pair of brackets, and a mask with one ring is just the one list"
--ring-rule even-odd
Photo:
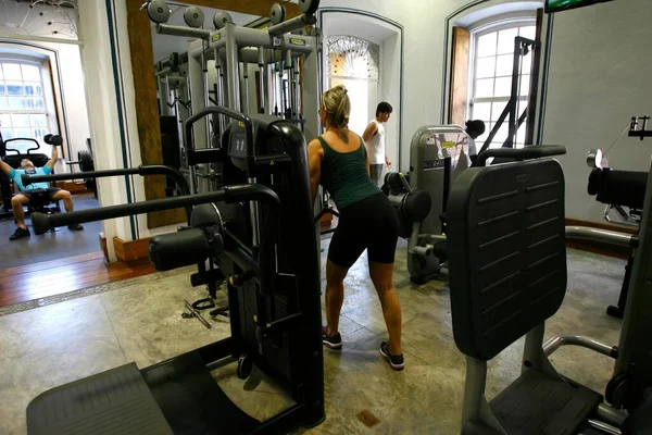
[[(326, 246), (327, 248), (327, 246)], [(326, 251), (325, 251), (326, 252)], [(325, 258), (325, 252), (322, 254)], [(385, 337), (380, 306), (361, 258), (346, 283), (341, 352), (325, 350), (326, 421), (305, 433), (455, 434), (460, 432), (464, 358), (451, 331), (443, 283), (417, 287), (398, 253), (396, 284), (403, 306), (406, 369), (392, 372), (377, 346)], [(568, 294), (547, 336), (574, 333), (617, 344), (620, 322), (604, 309), (618, 296), (624, 262), (569, 251)], [(183, 319), (184, 299), (204, 297), (189, 272), (155, 274), (113, 289), (0, 316), (0, 433), (25, 433), (25, 409), (38, 394), (128, 361), (147, 366), (229, 334), (224, 320), (208, 330)], [(106, 289), (104, 289), (106, 290)], [(517, 376), (522, 343), (491, 361), (488, 398)], [(564, 374), (603, 391), (612, 361), (588, 350), (562, 348), (553, 362)], [(256, 372), (242, 382), (235, 364), (214, 372), (227, 395), (253, 417), (269, 417), (287, 400)], [(380, 423), (366, 427), (367, 410)]]

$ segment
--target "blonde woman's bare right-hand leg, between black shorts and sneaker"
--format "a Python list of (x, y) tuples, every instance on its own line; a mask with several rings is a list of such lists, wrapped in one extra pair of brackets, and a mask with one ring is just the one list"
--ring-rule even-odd
[(389, 334), (391, 355), (403, 353), (401, 349), (401, 330), (403, 325), (401, 302), (393, 286), (393, 264), (369, 261), (369, 275), (383, 307), (383, 316)]

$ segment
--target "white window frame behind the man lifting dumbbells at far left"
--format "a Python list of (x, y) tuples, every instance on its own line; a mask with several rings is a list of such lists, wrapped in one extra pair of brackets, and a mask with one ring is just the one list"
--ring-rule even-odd
[[(0, 114), (45, 114), (46, 116), (46, 126), (41, 127), (48, 133), (59, 132), (59, 121), (57, 116), (57, 102), (54, 96), (54, 87), (52, 85), (52, 70), (47, 58), (41, 57), (32, 57), (25, 54), (17, 54), (11, 52), (0, 52), (0, 63), (16, 63), (16, 64), (25, 64), (36, 66), (40, 73), (40, 85), (42, 88), (42, 99), (43, 99), (43, 110), (22, 110), (22, 109), (0, 109)], [(22, 74), (22, 73), (21, 73)], [(23, 78), (23, 77), (22, 77)], [(3, 83), (7, 83), (7, 77), (2, 78)], [(35, 82), (36, 83), (36, 82)], [(11, 128), (15, 132), (16, 127), (4, 127)], [(29, 129), (32, 126), (28, 127)], [(8, 138), (4, 137), (7, 140)], [(43, 141), (42, 137), (35, 137), (34, 139), (38, 140), (40, 145), (39, 152), (51, 157), (51, 147), (47, 146)]]

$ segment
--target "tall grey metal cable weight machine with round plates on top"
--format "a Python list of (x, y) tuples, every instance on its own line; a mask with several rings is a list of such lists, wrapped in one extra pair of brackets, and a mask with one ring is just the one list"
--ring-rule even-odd
[[(318, 0), (301, 0), (299, 7), (302, 15), (286, 21), (285, 8), (274, 4), (271, 26), (264, 29), (237, 26), (227, 12), (217, 12), (210, 30), (200, 8), (185, 10), (188, 27), (183, 27), (165, 24), (171, 11), (163, 0), (143, 5), (159, 34), (193, 38), (186, 55), (191, 113), (217, 105), (272, 114), (292, 122), (310, 140), (318, 136), (318, 39), (309, 29), (316, 23)], [(225, 125), (224, 116), (206, 117), (193, 127), (195, 150), (184, 144), (191, 191), (221, 186), (222, 169), (214, 156), (222, 152)]]

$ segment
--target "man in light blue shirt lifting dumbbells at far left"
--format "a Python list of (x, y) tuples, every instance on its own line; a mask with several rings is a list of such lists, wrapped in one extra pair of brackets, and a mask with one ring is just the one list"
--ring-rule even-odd
[[(51, 188), (48, 183), (33, 183), (29, 186), (23, 186), (23, 179), (21, 178), (23, 174), (50, 175), (54, 169), (54, 163), (57, 163), (57, 160), (59, 160), (59, 152), (54, 146), (52, 147), (52, 158), (48, 160), (46, 165), (42, 167), (35, 167), (34, 163), (29, 159), (23, 159), (23, 161), (21, 161), (21, 169), (14, 170), (9, 164), (0, 160), (0, 169), (2, 169), (2, 172), (4, 172), (7, 176), (13, 181), (16, 190), (20, 191), (20, 194), (14, 195), (11, 199), (11, 207), (13, 209), (18, 227), (15, 233), (9, 237), (10, 240), (29, 237), (29, 229), (27, 229), (27, 225), (25, 225), (25, 212), (23, 211), (23, 207), (29, 203), (35, 190), (46, 191), (52, 201), (63, 199), (65, 211), (74, 210), (72, 195), (67, 190)], [(74, 224), (68, 225), (68, 229), (80, 231), (84, 229), (84, 227), (79, 224)]]

